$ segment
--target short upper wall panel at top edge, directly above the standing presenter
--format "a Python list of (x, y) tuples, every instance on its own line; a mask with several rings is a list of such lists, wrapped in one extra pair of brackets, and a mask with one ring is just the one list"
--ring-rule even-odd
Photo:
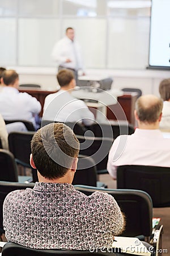
[(97, 16), (106, 11), (107, 0), (62, 0), (63, 15)]

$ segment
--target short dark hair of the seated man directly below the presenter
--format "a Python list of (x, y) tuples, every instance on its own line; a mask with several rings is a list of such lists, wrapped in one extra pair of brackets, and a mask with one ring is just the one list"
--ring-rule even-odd
[(69, 85), (74, 79), (73, 72), (68, 69), (61, 69), (57, 74), (58, 84), (63, 87)]

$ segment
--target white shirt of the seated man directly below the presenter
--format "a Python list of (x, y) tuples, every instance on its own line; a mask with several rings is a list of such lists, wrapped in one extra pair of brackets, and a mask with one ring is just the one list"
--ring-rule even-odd
[(62, 89), (46, 96), (42, 118), (58, 122), (83, 122), (87, 126), (95, 119), (94, 114), (82, 100), (74, 98)]

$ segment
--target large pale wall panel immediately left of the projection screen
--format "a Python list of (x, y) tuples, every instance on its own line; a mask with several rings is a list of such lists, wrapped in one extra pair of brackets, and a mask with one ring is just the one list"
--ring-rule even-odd
[(148, 64), (149, 18), (109, 20), (108, 68), (139, 69)]

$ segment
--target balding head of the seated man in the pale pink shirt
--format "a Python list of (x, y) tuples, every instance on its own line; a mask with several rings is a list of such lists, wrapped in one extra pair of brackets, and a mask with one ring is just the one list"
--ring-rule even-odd
[(155, 123), (158, 121), (162, 109), (162, 99), (154, 95), (141, 96), (135, 103), (135, 110), (141, 122)]

